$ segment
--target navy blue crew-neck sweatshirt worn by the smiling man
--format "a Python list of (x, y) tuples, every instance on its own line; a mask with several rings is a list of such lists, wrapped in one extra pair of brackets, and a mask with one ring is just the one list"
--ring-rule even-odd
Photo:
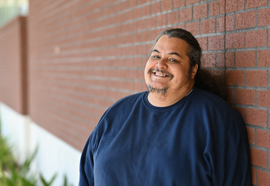
[(117, 101), (82, 152), (79, 186), (251, 185), (249, 145), (239, 112), (212, 93), (168, 107), (147, 93)]

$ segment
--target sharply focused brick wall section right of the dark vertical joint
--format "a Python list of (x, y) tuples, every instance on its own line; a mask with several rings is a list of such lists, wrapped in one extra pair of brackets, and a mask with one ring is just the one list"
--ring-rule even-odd
[(269, 2), (226, 2), (232, 3), (225, 17), (228, 102), (247, 126), (252, 183), (270, 185)]

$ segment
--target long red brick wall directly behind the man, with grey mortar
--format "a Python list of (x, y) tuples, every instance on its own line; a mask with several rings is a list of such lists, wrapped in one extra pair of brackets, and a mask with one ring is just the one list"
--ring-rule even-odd
[(226, 71), (249, 135), (254, 185), (270, 184), (268, 0), (30, 0), (29, 99), (37, 124), (82, 150), (104, 111), (144, 91), (149, 44), (168, 26)]

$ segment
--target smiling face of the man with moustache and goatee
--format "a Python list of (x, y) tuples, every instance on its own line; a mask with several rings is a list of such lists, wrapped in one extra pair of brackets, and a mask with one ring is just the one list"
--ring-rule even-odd
[(144, 70), (149, 92), (177, 94), (193, 87), (197, 68), (190, 71), (188, 47), (186, 41), (177, 37), (159, 38)]

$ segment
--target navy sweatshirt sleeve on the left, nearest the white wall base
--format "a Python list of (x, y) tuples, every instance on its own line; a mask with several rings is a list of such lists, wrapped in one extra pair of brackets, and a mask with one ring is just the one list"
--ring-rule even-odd
[(80, 161), (80, 177), (79, 177), (79, 186), (93, 186), (94, 185), (94, 160), (93, 154), (94, 149), (92, 148), (93, 144), (95, 144), (95, 130), (92, 132), (90, 137), (88, 138), (84, 150), (81, 154)]

